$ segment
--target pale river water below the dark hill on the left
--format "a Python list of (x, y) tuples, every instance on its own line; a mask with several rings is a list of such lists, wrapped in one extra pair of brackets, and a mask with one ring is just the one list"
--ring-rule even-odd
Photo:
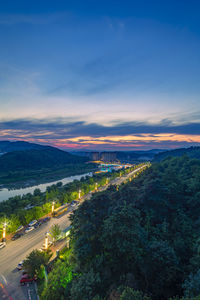
[(7, 188), (3, 188), (0, 189), (0, 202), (4, 201), (4, 200), (8, 200), (10, 197), (14, 197), (14, 196), (19, 196), (19, 195), (25, 195), (28, 193), (33, 193), (35, 189), (40, 189), (41, 192), (45, 192), (46, 188), (48, 186), (51, 186), (52, 184), (56, 184), (58, 182), (62, 182), (63, 185), (69, 182), (76, 180), (80, 180), (82, 177), (85, 176), (92, 176), (92, 173), (85, 173), (82, 175), (75, 175), (75, 176), (69, 176), (60, 180), (56, 180), (56, 181), (52, 181), (52, 182), (48, 182), (48, 183), (42, 183), (42, 184), (37, 184), (34, 186), (30, 186), (30, 187), (26, 187), (26, 188), (18, 188), (18, 189), (7, 189)]

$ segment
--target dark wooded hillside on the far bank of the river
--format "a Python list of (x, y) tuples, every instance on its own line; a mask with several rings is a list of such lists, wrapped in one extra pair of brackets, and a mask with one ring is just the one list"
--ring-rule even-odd
[(86, 164), (87, 161), (85, 157), (53, 147), (8, 152), (0, 156), (0, 184), (48, 181), (85, 173), (93, 168), (91, 164)]

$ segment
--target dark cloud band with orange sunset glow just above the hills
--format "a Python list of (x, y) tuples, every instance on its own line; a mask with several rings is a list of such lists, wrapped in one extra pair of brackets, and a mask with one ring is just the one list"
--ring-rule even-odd
[(116, 123), (104, 126), (72, 119), (0, 122), (1, 140), (26, 140), (63, 149), (151, 149), (200, 145), (200, 123)]

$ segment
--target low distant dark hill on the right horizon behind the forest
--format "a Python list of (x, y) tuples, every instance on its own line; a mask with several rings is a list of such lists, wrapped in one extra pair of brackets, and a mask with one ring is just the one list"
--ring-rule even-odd
[(188, 155), (191, 158), (200, 159), (200, 147), (180, 148), (171, 151), (161, 152), (155, 155), (154, 161), (161, 161), (166, 157), (177, 157)]

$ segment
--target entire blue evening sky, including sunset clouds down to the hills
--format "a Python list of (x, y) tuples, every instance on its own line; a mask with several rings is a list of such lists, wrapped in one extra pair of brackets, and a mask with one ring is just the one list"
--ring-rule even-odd
[(0, 140), (200, 145), (199, 0), (0, 0)]

